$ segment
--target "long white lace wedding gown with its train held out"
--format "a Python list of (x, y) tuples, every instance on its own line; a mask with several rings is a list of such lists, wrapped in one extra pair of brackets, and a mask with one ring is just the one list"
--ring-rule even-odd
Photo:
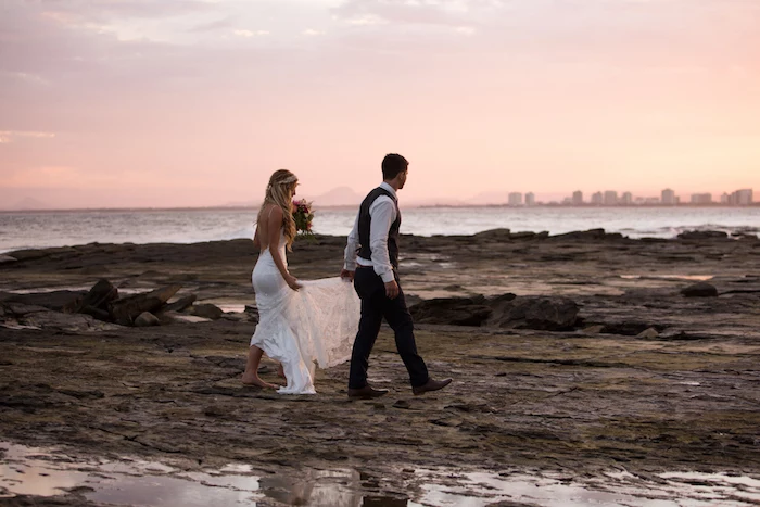
[[(280, 230), (280, 256), (288, 266), (286, 238)], [(329, 368), (346, 362), (358, 330), (360, 303), (353, 284), (340, 277), (299, 280), (288, 287), (269, 248), (251, 275), (256, 292), (258, 325), (251, 345), (279, 360), (288, 379), (280, 394), (315, 394), (316, 365)]]

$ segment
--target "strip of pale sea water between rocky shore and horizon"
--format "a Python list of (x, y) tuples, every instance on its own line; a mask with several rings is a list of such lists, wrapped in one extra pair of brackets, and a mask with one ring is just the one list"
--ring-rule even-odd
[[(489, 229), (559, 235), (603, 228), (630, 238), (685, 230), (760, 232), (760, 207), (427, 207), (405, 208), (402, 233), (473, 235)], [(356, 210), (318, 208), (314, 230), (346, 236)], [(0, 212), (0, 252), (100, 243), (194, 243), (252, 238), (256, 210)]]

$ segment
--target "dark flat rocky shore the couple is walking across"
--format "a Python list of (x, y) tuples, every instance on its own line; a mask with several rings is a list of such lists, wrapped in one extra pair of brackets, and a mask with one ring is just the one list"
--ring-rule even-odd
[[(291, 271), (337, 276), (344, 244), (299, 241)], [(383, 328), (370, 378), (391, 393), (371, 402), (346, 398), (347, 365), (318, 371), (316, 396), (240, 384), (257, 321), (250, 240), (8, 253), (1, 439), (185, 471), (350, 469), (362, 478), (351, 486), (356, 505), (419, 499), (415, 470), (760, 479), (756, 237), (499, 229), (405, 236), (402, 252), (420, 352), (433, 375), (455, 380), (413, 396)], [(265, 380), (276, 382), (275, 370), (265, 359)], [(45, 502), (86, 505), (85, 497), (71, 491)], [(273, 493), (257, 502), (294, 500)]]

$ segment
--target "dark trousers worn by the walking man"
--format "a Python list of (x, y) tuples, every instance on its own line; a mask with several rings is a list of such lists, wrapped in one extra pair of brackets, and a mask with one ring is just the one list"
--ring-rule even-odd
[(411, 385), (423, 385), (428, 381), (428, 367), (425, 366), (422, 357), (417, 354), (415, 327), (409, 309), (406, 307), (401, 284), (398, 296), (390, 300), (385, 295), (385, 284), (375, 269), (357, 267), (354, 275), (354, 289), (362, 300), (362, 319), (351, 355), (349, 389), (362, 389), (367, 385), (369, 354), (380, 332), (383, 317), (395, 332), (396, 350), (409, 372)]

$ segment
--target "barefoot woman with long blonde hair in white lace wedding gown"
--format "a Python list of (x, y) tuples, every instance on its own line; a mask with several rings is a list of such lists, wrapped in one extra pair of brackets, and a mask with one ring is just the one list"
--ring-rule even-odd
[(276, 389), (258, 377), (266, 353), (282, 365), (288, 384), (281, 394), (315, 394), (316, 365), (321, 368), (351, 357), (359, 321), (359, 300), (339, 277), (297, 280), (288, 271), (286, 251), (295, 238), (292, 201), (299, 179), (286, 169), (269, 178), (258, 212), (253, 244), (261, 250), (251, 280), (259, 321), (251, 339), (242, 382)]

